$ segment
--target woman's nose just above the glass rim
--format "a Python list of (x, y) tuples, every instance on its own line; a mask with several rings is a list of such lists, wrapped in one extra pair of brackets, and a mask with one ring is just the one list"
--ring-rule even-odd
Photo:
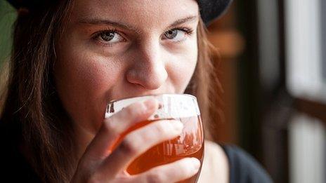
[(148, 90), (155, 90), (162, 86), (168, 77), (163, 52), (164, 50), (161, 50), (157, 44), (140, 46), (135, 50), (132, 65), (126, 72), (127, 81)]

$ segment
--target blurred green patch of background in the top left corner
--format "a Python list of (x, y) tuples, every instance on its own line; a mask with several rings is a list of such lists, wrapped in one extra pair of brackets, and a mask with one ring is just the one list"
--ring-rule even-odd
[(0, 0), (0, 68), (10, 57), (13, 22), (17, 17), (15, 8), (7, 1)]

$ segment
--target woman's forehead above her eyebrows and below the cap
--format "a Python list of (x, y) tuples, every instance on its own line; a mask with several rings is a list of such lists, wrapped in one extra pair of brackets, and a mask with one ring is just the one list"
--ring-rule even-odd
[(166, 27), (177, 20), (198, 16), (195, 0), (76, 0), (73, 22), (108, 20), (132, 27)]

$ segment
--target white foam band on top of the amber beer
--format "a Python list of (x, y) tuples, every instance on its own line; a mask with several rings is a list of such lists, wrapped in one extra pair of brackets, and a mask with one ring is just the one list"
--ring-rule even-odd
[(107, 109), (105, 110), (105, 118), (116, 114), (134, 102), (142, 102), (153, 97), (159, 101), (159, 109), (148, 120), (200, 116), (200, 109), (198, 108), (195, 96), (187, 94), (162, 94), (133, 97), (110, 102), (107, 104)]

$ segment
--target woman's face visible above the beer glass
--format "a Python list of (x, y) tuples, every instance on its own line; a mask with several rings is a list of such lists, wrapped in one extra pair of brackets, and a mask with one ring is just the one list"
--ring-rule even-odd
[(63, 106), (96, 133), (107, 102), (183, 93), (197, 62), (194, 0), (77, 0), (54, 67)]

